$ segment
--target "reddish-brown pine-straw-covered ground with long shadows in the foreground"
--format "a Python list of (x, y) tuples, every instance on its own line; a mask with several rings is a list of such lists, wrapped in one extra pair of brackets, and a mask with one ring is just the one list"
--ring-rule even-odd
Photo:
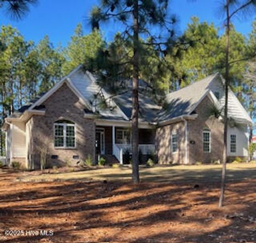
[[(249, 171), (255, 175), (255, 168), (239, 173)], [(0, 171), (0, 242), (256, 242), (254, 176), (229, 182), (221, 209), (218, 181), (20, 176)]]

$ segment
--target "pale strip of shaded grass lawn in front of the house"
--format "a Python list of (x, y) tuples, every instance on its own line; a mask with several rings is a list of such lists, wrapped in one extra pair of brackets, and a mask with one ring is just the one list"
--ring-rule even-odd
[[(222, 165), (177, 165), (140, 168), (140, 177), (145, 182), (168, 181), (219, 181)], [(256, 179), (256, 163), (227, 165), (228, 180)], [(88, 171), (41, 174), (25, 173), (19, 176), (20, 181), (57, 181), (57, 180), (130, 180), (131, 168), (102, 168)]]

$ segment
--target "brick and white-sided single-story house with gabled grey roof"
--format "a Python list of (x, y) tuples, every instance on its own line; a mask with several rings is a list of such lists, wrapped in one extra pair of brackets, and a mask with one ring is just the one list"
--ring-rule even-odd
[[(5, 119), (6, 160), (39, 168), (43, 150), (47, 163), (76, 165), (90, 155), (125, 163), (131, 153), (132, 93), (111, 95), (95, 77), (78, 66), (51, 90)], [(212, 163), (223, 155), (223, 78), (208, 76), (165, 97), (161, 107), (140, 82), (139, 150), (156, 155), (158, 163)], [(97, 106), (97, 95), (107, 106)], [(251, 118), (229, 89), (228, 156), (248, 156), (247, 126)], [(223, 113), (223, 112), (222, 112)]]

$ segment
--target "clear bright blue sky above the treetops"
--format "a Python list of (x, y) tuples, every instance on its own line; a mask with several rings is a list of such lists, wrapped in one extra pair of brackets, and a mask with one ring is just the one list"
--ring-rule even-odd
[[(223, 0), (171, 0), (170, 9), (178, 15), (179, 31), (184, 30), (190, 18), (195, 15), (201, 21), (213, 22), (215, 26), (222, 28), (222, 21), (218, 14), (221, 1)], [(86, 22), (91, 7), (97, 3), (97, 0), (39, 0), (37, 6), (32, 7), (25, 19), (19, 22), (3, 16), (1, 11), (0, 25), (11, 24), (17, 27), (26, 39), (35, 42), (47, 34), (54, 45), (61, 43), (65, 46), (78, 22), (83, 22), (85, 33), (90, 33), (90, 26), (86, 25)], [(238, 31), (246, 35), (251, 31), (252, 20), (253, 17), (243, 21), (236, 19), (234, 24)], [(118, 30), (118, 23), (115, 23), (106, 26), (104, 33), (109, 37)]]

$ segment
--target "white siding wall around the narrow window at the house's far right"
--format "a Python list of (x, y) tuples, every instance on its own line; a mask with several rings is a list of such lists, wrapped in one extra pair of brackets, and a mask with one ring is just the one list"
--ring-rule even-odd
[[(230, 135), (236, 135), (236, 152), (230, 152)], [(228, 127), (228, 156), (248, 156), (249, 133), (246, 125)]]

